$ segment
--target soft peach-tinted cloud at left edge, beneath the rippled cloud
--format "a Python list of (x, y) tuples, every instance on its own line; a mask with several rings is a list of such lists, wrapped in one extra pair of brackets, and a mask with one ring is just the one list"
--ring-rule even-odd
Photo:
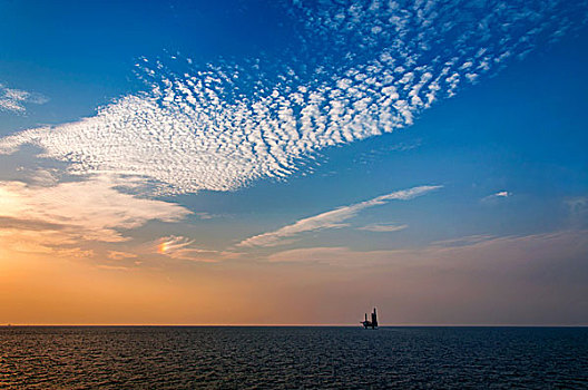
[(0, 182), (0, 235), (6, 241), (50, 248), (84, 241), (121, 242), (121, 230), (148, 221), (177, 222), (190, 212), (175, 203), (140, 198), (117, 189), (108, 176), (55, 186)]

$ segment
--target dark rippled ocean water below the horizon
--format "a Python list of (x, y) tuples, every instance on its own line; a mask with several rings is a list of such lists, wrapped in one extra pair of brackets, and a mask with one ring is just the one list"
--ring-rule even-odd
[(1, 389), (588, 388), (586, 328), (0, 328)]

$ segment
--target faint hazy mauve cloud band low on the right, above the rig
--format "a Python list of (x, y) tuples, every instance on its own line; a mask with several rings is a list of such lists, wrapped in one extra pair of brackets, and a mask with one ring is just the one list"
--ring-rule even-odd
[[(339, 265), (396, 264), (413, 266), (450, 266), (452, 270), (490, 266), (504, 273), (512, 267), (520, 271), (548, 257), (552, 264), (567, 257), (578, 261), (586, 257), (588, 251), (587, 231), (561, 231), (522, 236), (468, 236), (431, 243), (416, 248), (383, 251), (354, 251), (349, 247), (304, 247), (271, 254), (270, 262), (320, 262)], [(476, 260), (476, 261), (473, 261)], [(588, 272), (586, 262), (581, 262), (584, 273)], [(460, 264), (460, 266), (455, 266)]]

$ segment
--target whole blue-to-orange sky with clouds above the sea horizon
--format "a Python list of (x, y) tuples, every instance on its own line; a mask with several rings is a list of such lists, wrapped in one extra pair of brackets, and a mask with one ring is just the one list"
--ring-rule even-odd
[(588, 325), (587, 23), (0, 0), (0, 323)]

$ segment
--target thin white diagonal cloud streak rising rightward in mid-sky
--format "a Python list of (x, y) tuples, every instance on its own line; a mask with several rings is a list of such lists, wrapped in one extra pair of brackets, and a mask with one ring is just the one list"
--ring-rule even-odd
[(441, 186), (420, 186), (410, 189), (396, 191), (386, 195), (374, 197), (373, 199), (356, 203), (350, 206), (343, 206), (326, 213), (314, 215), (297, 221), (292, 225), (286, 225), (274, 232), (263, 233), (242, 241), (238, 246), (275, 246), (283, 244), (288, 237), (296, 236), (304, 232), (337, 228), (347, 226), (342, 222), (357, 215), (362, 209), (386, 204), (390, 201), (408, 201), (416, 196), (424, 195), (431, 191), (441, 188)]

